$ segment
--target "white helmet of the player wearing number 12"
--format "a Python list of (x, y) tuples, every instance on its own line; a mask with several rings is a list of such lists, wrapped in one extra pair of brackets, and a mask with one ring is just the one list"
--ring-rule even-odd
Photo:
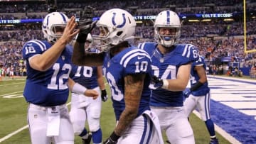
[(46, 15), (43, 19), (42, 31), (43, 36), (50, 42), (55, 43), (62, 33), (56, 33), (58, 31), (64, 31), (65, 26), (68, 23), (68, 16), (64, 13), (53, 12)]

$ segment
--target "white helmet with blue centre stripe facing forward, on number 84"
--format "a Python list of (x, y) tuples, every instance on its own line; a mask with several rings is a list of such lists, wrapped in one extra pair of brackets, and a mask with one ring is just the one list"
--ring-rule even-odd
[[(160, 35), (159, 28), (175, 28), (175, 35)], [(161, 11), (154, 21), (154, 37), (157, 43), (169, 48), (178, 43), (181, 36), (181, 21), (174, 11)]]

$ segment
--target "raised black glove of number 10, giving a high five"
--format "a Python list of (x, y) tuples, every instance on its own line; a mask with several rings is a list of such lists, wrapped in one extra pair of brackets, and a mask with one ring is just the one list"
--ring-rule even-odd
[(76, 39), (78, 43), (85, 43), (88, 33), (90, 33), (96, 25), (97, 21), (92, 21), (94, 10), (95, 9), (91, 6), (86, 6), (84, 11), (80, 11), (80, 18), (78, 22), (78, 29), (80, 32)]

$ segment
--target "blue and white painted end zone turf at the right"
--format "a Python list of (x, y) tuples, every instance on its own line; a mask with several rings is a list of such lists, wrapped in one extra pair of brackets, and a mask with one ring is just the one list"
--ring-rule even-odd
[(256, 81), (211, 76), (208, 81), (214, 123), (240, 143), (256, 143)]

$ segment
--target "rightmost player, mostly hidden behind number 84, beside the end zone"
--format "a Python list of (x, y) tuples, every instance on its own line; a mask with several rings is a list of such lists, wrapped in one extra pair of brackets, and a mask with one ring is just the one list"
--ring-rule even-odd
[(218, 144), (215, 129), (210, 118), (210, 88), (206, 77), (206, 63), (203, 57), (193, 62), (190, 77), (191, 88), (186, 88), (183, 95), (187, 98), (184, 101), (184, 109), (188, 117), (191, 112), (198, 108), (201, 119), (206, 123), (206, 128), (210, 133), (210, 144)]

